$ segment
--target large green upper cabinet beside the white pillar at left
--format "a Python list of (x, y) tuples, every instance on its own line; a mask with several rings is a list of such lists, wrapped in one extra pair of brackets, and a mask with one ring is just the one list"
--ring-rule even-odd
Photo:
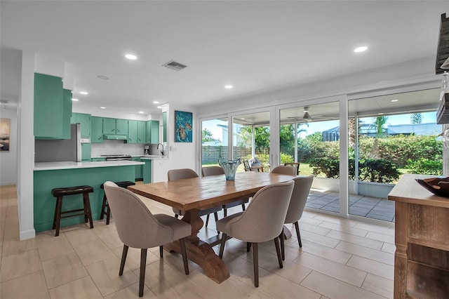
[(34, 74), (34, 136), (61, 139), (65, 130), (62, 79)]

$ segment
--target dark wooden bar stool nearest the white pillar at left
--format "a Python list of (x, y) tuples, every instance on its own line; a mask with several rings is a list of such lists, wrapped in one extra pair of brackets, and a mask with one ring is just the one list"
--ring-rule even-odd
[[(53, 218), (53, 230), (56, 229), (55, 237), (59, 236), (59, 230), (61, 227), (62, 218), (70, 218), (75, 216), (84, 215), (84, 222), (90, 222), (91, 228), (93, 228), (92, 212), (91, 212), (91, 201), (89, 200), (89, 193), (93, 192), (93, 187), (91, 186), (76, 186), (67, 188), (55, 188), (51, 190), (53, 197), (56, 197), (55, 206), (55, 217)], [(75, 210), (62, 211), (62, 198), (69, 195), (83, 194), (83, 208), (77, 208)], [(83, 213), (76, 213), (81, 212)], [(65, 215), (62, 214), (71, 214)], [(76, 213), (76, 214), (74, 214)]]

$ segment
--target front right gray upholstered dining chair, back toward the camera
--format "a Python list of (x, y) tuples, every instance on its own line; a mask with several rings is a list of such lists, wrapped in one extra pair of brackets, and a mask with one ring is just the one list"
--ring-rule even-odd
[(227, 237), (247, 242), (247, 251), (253, 247), (254, 286), (259, 286), (259, 261), (257, 243), (274, 240), (279, 267), (283, 267), (279, 234), (283, 230), (288, 204), (293, 192), (293, 180), (263, 187), (257, 191), (246, 211), (227, 216), (217, 222), (222, 232), (220, 258), (223, 257)]

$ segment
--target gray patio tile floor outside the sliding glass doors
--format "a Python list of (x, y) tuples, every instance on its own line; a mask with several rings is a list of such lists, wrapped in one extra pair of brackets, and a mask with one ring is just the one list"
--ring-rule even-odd
[[(338, 213), (340, 211), (340, 194), (312, 189), (306, 206)], [(349, 214), (394, 222), (394, 201), (349, 194)]]

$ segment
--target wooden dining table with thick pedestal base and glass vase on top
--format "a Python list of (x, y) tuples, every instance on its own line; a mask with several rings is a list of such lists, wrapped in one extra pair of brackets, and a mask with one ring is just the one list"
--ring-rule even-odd
[[(292, 178), (295, 176), (246, 171), (236, 173), (235, 180), (226, 180), (225, 175), (210, 175), (133, 185), (128, 190), (185, 211), (182, 220), (192, 225), (192, 234), (186, 241), (187, 258), (202, 267), (206, 276), (220, 284), (229, 278), (229, 270), (212, 249), (219, 243), (218, 235), (208, 240), (199, 239), (198, 232), (203, 227), (203, 220), (198, 211), (253, 197), (262, 187)], [(181, 252), (179, 241), (164, 244), (163, 247), (168, 251)]]

